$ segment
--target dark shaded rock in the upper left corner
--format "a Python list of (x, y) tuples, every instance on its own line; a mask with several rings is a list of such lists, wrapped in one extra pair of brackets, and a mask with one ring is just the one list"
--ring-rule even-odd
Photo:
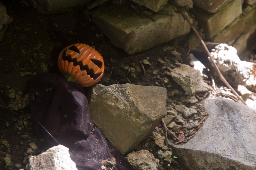
[(0, 41), (4, 37), (4, 32), (7, 28), (7, 25), (13, 21), (6, 13), (6, 8), (4, 4), (0, 1)]

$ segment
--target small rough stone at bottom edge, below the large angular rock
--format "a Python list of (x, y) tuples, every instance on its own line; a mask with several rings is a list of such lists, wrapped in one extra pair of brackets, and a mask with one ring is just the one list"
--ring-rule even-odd
[(134, 170), (157, 170), (158, 159), (148, 150), (140, 150), (129, 153), (126, 159)]

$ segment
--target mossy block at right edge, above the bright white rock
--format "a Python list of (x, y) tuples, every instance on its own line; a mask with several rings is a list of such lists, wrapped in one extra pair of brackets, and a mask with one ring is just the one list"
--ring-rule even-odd
[[(256, 4), (247, 6), (243, 14), (236, 18), (228, 27), (212, 38), (215, 43), (225, 43), (237, 49), (241, 54), (246, 48), (248, 34), (256, 29)], [(243, 46), (240, 46), (243, 44)]]

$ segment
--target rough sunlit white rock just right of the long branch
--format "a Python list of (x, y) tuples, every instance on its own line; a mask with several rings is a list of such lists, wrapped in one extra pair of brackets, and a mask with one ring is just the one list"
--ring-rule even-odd
[[(219, 67), (220, 72), (233, 87), (244, 85), (249, 79), (253, 65), (250, 62), (241, 61), (236, 55), (236, 49), (227, 44), (220, 44), (212, 49), (212, 57)], [(217, 77), (217, 75), (215, 75)]]

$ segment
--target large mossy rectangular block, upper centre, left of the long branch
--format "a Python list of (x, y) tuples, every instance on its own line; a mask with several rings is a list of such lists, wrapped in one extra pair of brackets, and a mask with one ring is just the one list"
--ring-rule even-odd
[[(175, 7), (167, 5), (166, 8), (171, 11), (166, 13), (171, 15), (142, 17), (141, 13), (127, 7), (106, 6), (94, 12), (92, 20), (111, 43), (128, 54), (134, 54), (190, 32), (188, 22), (180, 13), (175, 12)], [(188, 15), (186, 11), (183, 13)]]

